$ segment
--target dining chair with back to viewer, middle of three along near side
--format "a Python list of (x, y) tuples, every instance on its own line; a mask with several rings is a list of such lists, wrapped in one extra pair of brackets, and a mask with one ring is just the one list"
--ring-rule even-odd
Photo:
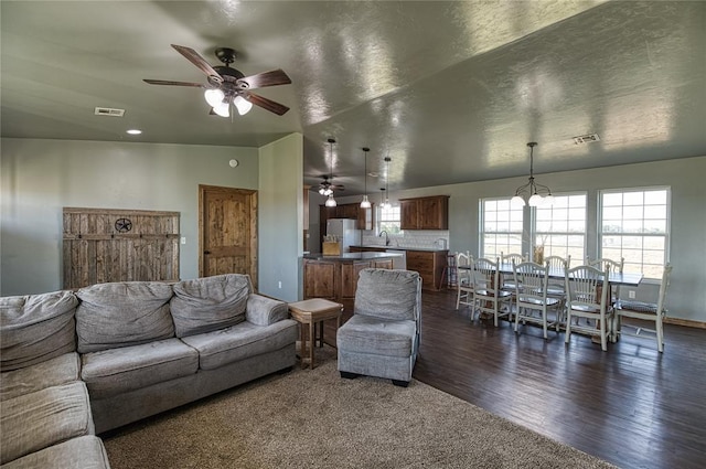
[[(535, 263), (513, 264), (513, 278), (515, 287), (515, 333), (517, 333), (520, 321), (523, 326), (526, 322), (538, 323), (544, 332), (544, 340), (547, 340), (547, 328), (553, 326), (559, 332), (559, 320), (561, 313), (558, 298), (547, 296), (549, 280), (548, 267), (543, 267)], [(556, 312), (553, 322), (549, 322), (548, 311)], [(539, 313), (539, 317), (536, 313)]]

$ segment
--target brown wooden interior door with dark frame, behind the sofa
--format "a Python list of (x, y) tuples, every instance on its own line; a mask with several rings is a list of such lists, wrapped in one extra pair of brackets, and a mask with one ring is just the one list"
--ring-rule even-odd
[(248, 274), (257, 288), (257, 191), (199, 186), (199, 275)]

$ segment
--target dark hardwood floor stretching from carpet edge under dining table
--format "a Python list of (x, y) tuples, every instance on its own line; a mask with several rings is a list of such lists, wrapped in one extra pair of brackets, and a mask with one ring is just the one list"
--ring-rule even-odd
[(453, 290), (422, 302), (415, 379), (621, 468), (706, 467), (706, 330), (667, 324), (662, 354), (630, 337), (602, 352), (579, 334), (565, 345), (563, 332), (471, 322)]

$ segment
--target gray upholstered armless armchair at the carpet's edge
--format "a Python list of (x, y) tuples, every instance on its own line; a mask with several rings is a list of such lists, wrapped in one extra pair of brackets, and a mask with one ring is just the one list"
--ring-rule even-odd
[(336, 334), (341, 377), (364, 374), (407, 386), (417, 360), (420, 327), (419, 274), (363, 269), (353, 317)]

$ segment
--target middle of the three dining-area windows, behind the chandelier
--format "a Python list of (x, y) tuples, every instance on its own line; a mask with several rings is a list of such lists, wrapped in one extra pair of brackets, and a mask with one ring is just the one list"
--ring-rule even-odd
[(586, 193), (554, 195), (550, 206), (535, 212), (534, 245), (544, 245), (544, 256), (571, 256), (571, 267), (586, 257)]

